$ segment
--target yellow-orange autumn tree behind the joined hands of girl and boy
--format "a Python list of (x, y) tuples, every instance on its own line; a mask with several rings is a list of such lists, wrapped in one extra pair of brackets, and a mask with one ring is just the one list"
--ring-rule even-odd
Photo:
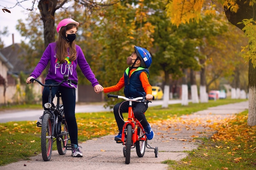
[[(100, 52), (97, 60), (103, 66), (100, 75), (104, 86), (117, 84), (128, 67), (126, 59), (134, 51), (135, 45), (148, 50), (152, 46), (154, 27), (148, 22), (148, 13), (143, 3), (134, 5), (120, 2), (101, 9), (94, 15), (97, 24), (93, 37), (100, 46), (97, 49)], [(123, 91), (117, 92), (119, 93), (123, 94)], [(111, 103), (113, 104), (108, 101), (108, 104)]]

